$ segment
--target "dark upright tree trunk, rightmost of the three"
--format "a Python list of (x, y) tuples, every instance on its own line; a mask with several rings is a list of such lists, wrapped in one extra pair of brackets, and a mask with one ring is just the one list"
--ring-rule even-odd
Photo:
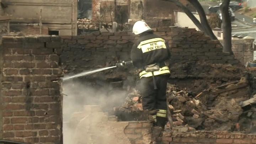
[(224, 0), (220, 5), (220, 11), (222, 13), (222, 30), (223, 30), (223, 51), (232, 52), (232, 41), (231, 41), (231, 20), (229, 16), (229, 2), (230, 0)]

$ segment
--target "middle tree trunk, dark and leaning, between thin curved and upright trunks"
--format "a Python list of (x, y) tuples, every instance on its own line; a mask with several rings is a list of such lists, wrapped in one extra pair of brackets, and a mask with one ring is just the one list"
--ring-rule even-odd
[(206, 32), (206, 34), (208, 36), (210, 36), (211, 39), (217, 39), (217, 37), (214, 35), (214, 33), (212, 31), (212, 28), (210, 27), (210, 25), (207, 21), (206, 14), (204, 12), (202, 5), (198, 2), (198, 0), (189, 0), (189, 2), (197, 10), (199, 17), (200, 17), (201, 24), (204, 28), (204, 32)]

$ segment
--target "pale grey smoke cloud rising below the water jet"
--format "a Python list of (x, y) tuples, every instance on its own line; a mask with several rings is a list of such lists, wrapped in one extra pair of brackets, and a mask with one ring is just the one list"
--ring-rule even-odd
[[(87, 111), (84, 108), (85, 105), (98, 105), (101, 107), (103, 112), (108, 112), (110, 115), (113, 115), (113, 108), (119, 107), (124, 103), (127, 96), (127, 91), (123, 90), (122, 86), (118, 88), (104, 82), (92, 84), (90, 82), (82, 83), (76, 81), (65, 81), (63, 83), (63, 94), (63, 137), (64, 144), (70, 144), (75, 142), (75, 134), (76, 136), (78, 135), (76, 132), (76, 127), (78, 126), (80, 119), (88, 116), (83, 115), (82, 113)], [(98, 113), (97, 116), (92, 115), (87, 119), (88, 121), (90, 119), (90, 122), (93, 121), (94, 124), (97, 122), (102, 123), (104, 119), (107, 119), (107, 115), (102, 114), (101, 112)], [(89, 126), (92, 127), (93, 123), (83, 124), (82, 127), (85, 128), (83, 128), (84, 132), (81, 133), (84, 134), (84, 138), (88, 138), (88, 135), (86, 135), (86, 130), (89, 130)], [(94, 129), (95, 132), (97, 130), (98, 129)], [(106, 136), (103, 137), (103, 139), (110, 139), (110, 135), (108, 134), (111, 132), (102, 130), (102, 128), (101, 132), (104, 132), (104, 134), (101, 134), (101, 139), (103, 135)], [(85, 140), (85, 143), (87, 143), (87, 140)]]

